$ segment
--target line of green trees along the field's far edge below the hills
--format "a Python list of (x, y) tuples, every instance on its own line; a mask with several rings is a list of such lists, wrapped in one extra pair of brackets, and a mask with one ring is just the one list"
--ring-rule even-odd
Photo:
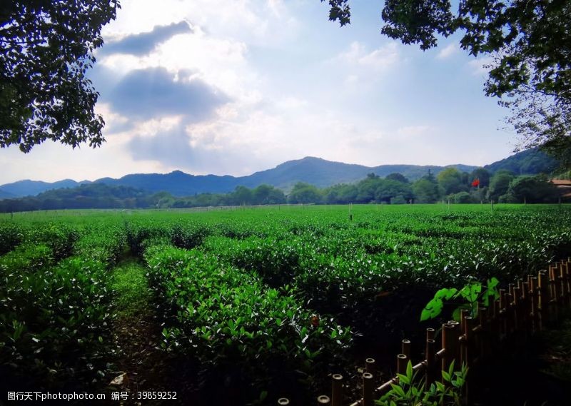
[(61, 188), (38, 196), (0, 200), (0, 212), (82, 208), (193, 208), (207, 206), (348, 203), (557, 203), (557, 188), (545, 175), (515, 176), (510, 171), (490, 174), (485, 168), (471, 173), (446, 168), (411, 182), (400, 173), (385, 178), (369, 173), (358, 183), (317, 188), (295, 183), (288, 193), (269, 185), (238, 186), (231, 193), (200, 193), (176, 197), (168, 192), (150, 193), (128, 186), (90, 183)]

